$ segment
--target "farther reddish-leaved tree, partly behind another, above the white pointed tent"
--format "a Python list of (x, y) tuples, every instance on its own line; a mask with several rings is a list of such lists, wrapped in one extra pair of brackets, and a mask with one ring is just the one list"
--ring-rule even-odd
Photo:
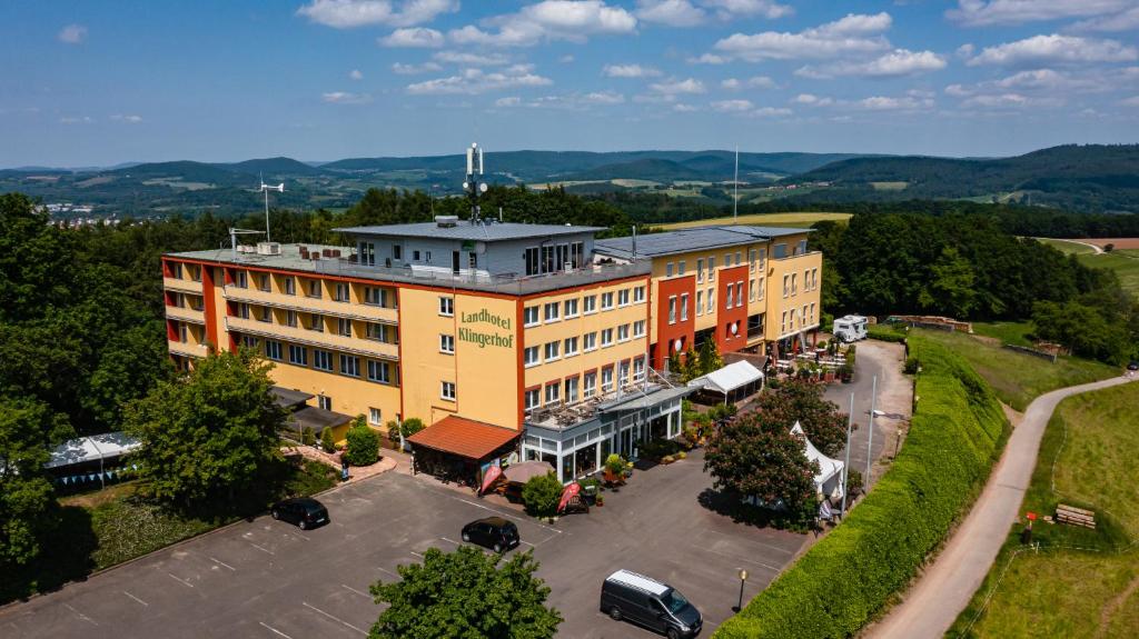
[(847, 417), (837, 404), (823, 398), (822, 392), (820, 384), (792, 379), (778, 390), (760, 395), (754, 408), (788, 429), (798, 422), (811, 443), (823, 455), (834, 457), (846, 446)]

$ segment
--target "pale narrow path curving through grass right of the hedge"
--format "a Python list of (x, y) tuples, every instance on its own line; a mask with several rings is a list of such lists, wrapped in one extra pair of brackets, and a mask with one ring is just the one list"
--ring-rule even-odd
[(1065, 397), (1121, 383), (1113, 377), (1044, 393), (1029, 405), (997, 468), (968, 516), (902, 603), (870, 629), (875, 639), (923, 639), (945, 634), (1008, 538), (1036, 465), (1036, 451), (1056, 405)]

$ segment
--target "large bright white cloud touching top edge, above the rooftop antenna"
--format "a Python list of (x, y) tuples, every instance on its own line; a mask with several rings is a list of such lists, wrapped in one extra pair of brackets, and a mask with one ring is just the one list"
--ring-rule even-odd
[(542, 0), (508, 14), (483, 20), (486, 27), (467, 25), (448, 36), (457, 44), (532, 47), (542, 41), (584, 42), (590, 35), (625, 34), (637, 30), (637, 18), (603, 0)]

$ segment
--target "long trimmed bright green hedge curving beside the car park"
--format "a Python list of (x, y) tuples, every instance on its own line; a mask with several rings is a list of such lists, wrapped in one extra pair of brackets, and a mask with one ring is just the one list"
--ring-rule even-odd
[(913, 337), (920, 397), (893, 467), (716, 638), (851, 637), (906, 588), (972, 504), (1008, 433), (995, 396), (944, 347)]

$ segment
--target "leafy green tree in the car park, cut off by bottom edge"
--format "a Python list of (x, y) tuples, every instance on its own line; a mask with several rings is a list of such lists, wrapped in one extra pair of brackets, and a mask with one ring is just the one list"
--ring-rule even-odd
[[(533, 553), (505, 561), (474, 546), (429, 548), (421, 564), (401, 565), (399, 581), (370, 588), (388, 604), (371, 639), (548, 639), (562, 614), (546, 606), (549, 587), (534, 576)], [(500, 566), (499, 564), (502, 563)]]

